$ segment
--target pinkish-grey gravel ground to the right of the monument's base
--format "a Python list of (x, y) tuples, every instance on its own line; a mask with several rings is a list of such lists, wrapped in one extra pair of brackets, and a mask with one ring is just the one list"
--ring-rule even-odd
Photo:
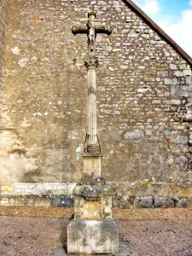
[(132, 255), (192, 255), (192, 221), (121, 220), (119, 232)]

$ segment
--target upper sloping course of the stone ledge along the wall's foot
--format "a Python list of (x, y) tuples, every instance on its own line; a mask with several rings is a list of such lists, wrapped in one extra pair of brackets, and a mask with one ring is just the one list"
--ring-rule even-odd
[[(0, 186), (1, 195), (73, 195), (77, 183), (10, 183)], [(163, 197), (192, 197), (192, 184), (108, 182), (108, 190), (115, 195), (143, 195)]]

